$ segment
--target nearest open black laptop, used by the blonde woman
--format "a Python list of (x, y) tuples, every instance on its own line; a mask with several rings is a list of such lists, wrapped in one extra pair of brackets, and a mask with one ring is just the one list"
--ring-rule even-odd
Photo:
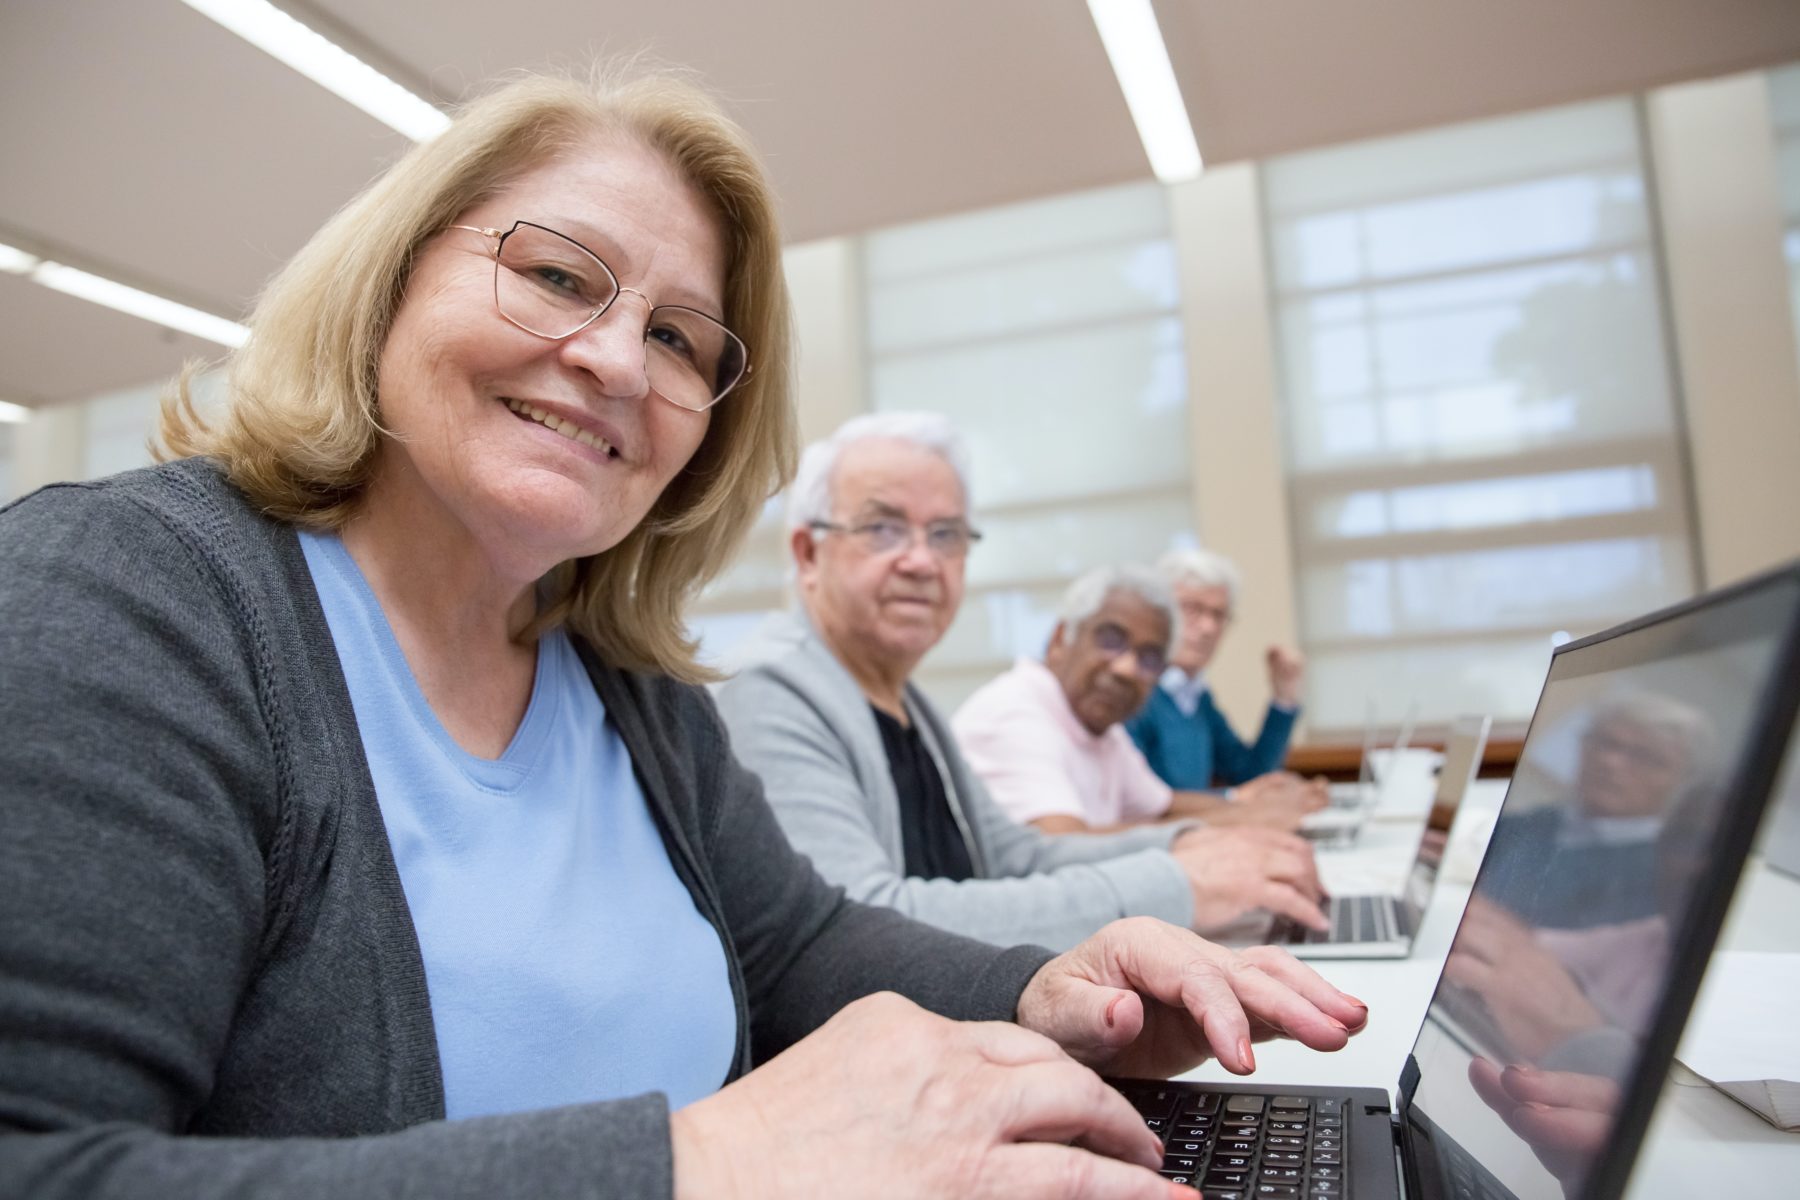
[(1163, 1175), (1211, 1200), (1618, 1196), (1796, 709), (1800, 563), (1557, 648), (1399, 1103), (1120, 1079)]

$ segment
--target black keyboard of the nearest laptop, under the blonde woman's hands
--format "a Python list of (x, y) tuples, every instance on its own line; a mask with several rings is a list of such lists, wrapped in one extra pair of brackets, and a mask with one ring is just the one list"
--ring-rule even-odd
[(1350, 1103), (1321, 1096), (1197, 1092), (1112, 1079), (1163, 1139), (1163, 1178), (1206, 1200), (1337, 1200)]

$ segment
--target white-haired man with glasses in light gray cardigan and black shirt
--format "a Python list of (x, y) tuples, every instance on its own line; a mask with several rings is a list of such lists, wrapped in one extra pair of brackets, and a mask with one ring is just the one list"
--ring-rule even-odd
[[(936, 414), (857, 417), (806, 448), (788, 504), (801, 613), (720, 691), (733, 750), (796, 847), (851, 898), (985, 941), (1069, 946), (1121, 916), (1318, 925), (1310, 858), (1267, 831), (1055, 838), (1006, 819), (911, 684), (963, 599), (979, 534)], [(1303, 851), (1303, 847), (1301, 847)]]

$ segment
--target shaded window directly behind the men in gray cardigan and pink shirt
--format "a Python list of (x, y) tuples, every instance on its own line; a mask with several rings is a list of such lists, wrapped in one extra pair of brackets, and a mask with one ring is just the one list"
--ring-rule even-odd
[(947, 711), (1044, 649), (1089, 567), (1193, 538), (1175, 246), (1134, 184), (871, 234), (869, 407), (943, 412), (976, 520), (956, 624), (918, 671)]

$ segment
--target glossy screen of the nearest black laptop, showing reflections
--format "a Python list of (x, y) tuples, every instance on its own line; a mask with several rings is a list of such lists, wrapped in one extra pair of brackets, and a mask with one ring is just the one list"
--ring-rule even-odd
[(1789, 572), (1552, 660), (1413, 1047), (1427, 1196), (1586, 1195), (1647, 1043), (1674, 1036), (1652, 1036), (1660, 1006), (1699, 970), (1679, 948), (1742, 824), (1730, 784), (1768, 743), (1796, 603)]

